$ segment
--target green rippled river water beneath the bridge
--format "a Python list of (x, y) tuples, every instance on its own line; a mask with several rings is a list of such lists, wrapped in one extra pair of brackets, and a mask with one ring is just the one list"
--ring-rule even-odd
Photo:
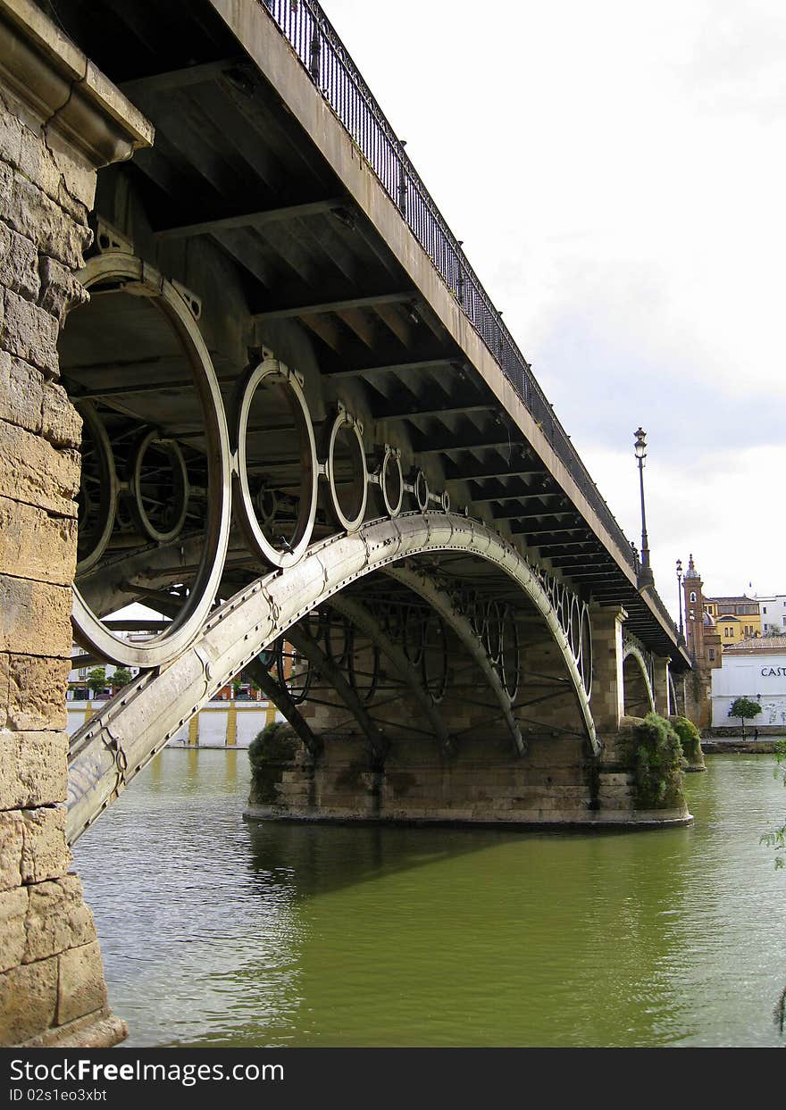
[(244, 751), (164, 750), (77, 845), (131, 1046), (776, 1046), (773, 756), (691, 828), (256, 825)]

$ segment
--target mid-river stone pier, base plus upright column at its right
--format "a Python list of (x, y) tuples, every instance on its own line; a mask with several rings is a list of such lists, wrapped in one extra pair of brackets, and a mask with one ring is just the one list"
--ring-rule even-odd
[[(575, 692), (560, 692), (564, 682), (560, 653), (545, 634), (522, 650), (517, 696), (525, 739), (522, 756), (514, 753), (502, 723), (480, 708), (487, 703), (487, 690), (472, 683), (463, 687), (461, 699), (440, 706), (455, 737), (451, 751), (441, 751), (435, 737), (407, 734), (412, 712), (404, 698), (381, 714), (392, 726), (380, 720), (389, 739), (383, 759), (373, 758), (361, 731), (350, 727), (345, 708), (312, 704), (303, 713), (324, 741), (319, 755), (310, 755), (294, 735), (280, 736), (271, 746), (270, 760), (254, 776), (246, 816), (532, 826), (689, 820), (684, 806), (654, 811), (635, 805), (631, 751), (632, 727), (638, 718), (624, 714), (625, 616), (619, 607), (598, 606), (593, 612), (591, 706), (602, 743), (598, 754), (593, 754), (582, 731)], [(456, 656), (452, 650), (451, 657)], [(665, 705), (662, 712), (666, 713)]]

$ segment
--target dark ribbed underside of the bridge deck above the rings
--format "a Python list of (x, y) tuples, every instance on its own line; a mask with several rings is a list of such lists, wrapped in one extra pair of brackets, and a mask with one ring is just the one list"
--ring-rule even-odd
[[(105, 171), (99, 213), (103, 193), (103, 214), (117, 224), (122, 199), (133, 196), (137, 253), (178, 273), (190, 252), (201, 251), (231, 275), (246, 317), (234, 349), (218, 339), (225, 321), (214, 319), (209, 297), (201, 317), (228, 410), (249, 349), (274, 350), (292, 365), (310, 362), (320, 375), (318, 425), (334, 401), (352, 405), (376, 442), (401, 447), (425, 470), (432, 488), (446, 488), (454, 505), (525, 544), (583, 597), (623, 605), (631, 630), (674, 655), (669, 632), (629, 571), (577, 512), (212, 6), (178, 0), (163, 11), (152, 3), (95, 10), (73, 0), (62, 9), (83, 49), (157, 129), (152, 149)], [(161, 34), (162, 20), (178, 34)], [(128, 179), (125, 190), (118, 175)], [(113, 440), (154, 424), (183, 446), (199, 488), (208, 448), (199, 405), (184, 389), (189, 362), (144, 297), (102, 303), (94, 295), (81, 321), (79, 313), (70, 320), (61, 362), (71, 396), (92, 401)], [(308, 381), (305, 387), (309, 394)], [(289, 431), (270, 411), (255, 430), (264, 438), (265, 477), (273, 475), (284, 500), (300, 485)], [(320, 509), (314, 537), (332, 531)], [(159, 549), (165, 544), (151, 553), (124, 543), (115, 536), (82, 577), (97, 612), (139, 599), (129, 583), (155, 589), (188, 576), (182, 537), (172, 545), (177, 574)], [(235, 533), (226, 566), (222, 596), (260, 569)]]

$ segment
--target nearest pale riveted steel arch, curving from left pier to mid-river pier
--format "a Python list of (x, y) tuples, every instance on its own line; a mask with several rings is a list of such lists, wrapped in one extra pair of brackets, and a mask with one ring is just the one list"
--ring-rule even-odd
[[(138, 677), (79, 729), (72, 739), (69, 771), (71, 842), (228, 677), (291, 625), (365, 575), (406, 557), (437, 552), (468, 553), (518, 585), (562, 655), (587, 738), (597, 753), (590, 699), (576, 659), (535, 568), (497, 532), (477, 521), (456, 513), (407, 513), (312, 544), (295, 566), (258, 578), (215, 609), (169, 667)], [(339, 607), (344, 599), (336, 597), (335, 603)]]

